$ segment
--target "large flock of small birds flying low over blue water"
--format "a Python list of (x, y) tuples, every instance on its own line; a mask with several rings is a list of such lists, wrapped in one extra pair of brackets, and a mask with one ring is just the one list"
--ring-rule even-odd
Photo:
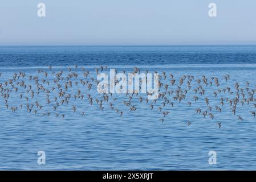
[[(112, 93), (97, 93), (97, 97), (92, 96), (92, 93), (96, 91), (92, 88), (96, 88), (99, 84), (93, 75), (100, 72), (104, 72), (108, 69), (107, 66), (101, 66), (96, 68), (94, 73), (86, 71), (85, 68), (79, 68), (75, 65), (72, 68), (68, 68), (67, 71), (54, 71), (51, 66), (45, 71), (38, 69), (35, 75), (27, 75), (25, 72), (14, 73), (11, 78), (4, 81), (2, 73), (0, 73), (0, 92), (1, 99), (3, 100), (4, 107), (11, 110), (13, 113), (19, 109), (26, 108), (27, 112), (34, 114), (42, 114), (43, 117), (49, 117), (55, 115), (55, 117), (65, 118), (66, 111), (62, 111), (62, 106), (70, 108), (73, 113), (78, 113), (78, 107), (76, 105), (70, 105), (70, 101), (87, 101), (90, 105), (96, 105), (101, 111), (110, 109), (123, 117), (124, 113), (135, 112), (137, 105), (144, 102), (151, 110), (157, 110), (162, 117), (161, 122), (170, 114), (171, 107), (181, 102), (185, 102), (189, 107), (196, 105), (198, 100), (204, 100), (205, 108), (196, 108), (195, 114), (201, 114), (202, 117), (209, 117), (214, 119), (215, 113), (221, 113), (224, 105), (230, 107), (230, 111), (233, 115), (243, 122), (241, 115), (237, 115), (238, 105), (250, 105), (250, 115), (255, 118), (256, 98), (254, 89), (250, 88), (250, 83), (246, 82), (245, 88), (242, 88), (238, 82), (234, 84), (234, 90), (225, 86), (221, 88), (219, 78), (202, 75), (201, 78), (194, 78), (192, 75), (183, 75), (176, 79), (172, 74), (166, 72), (159, 73), (159, 97), (156, 100), (148, 100), (147, 94), (141, 93), (126, 93), (120, 101), (125, 106), (124, 110), (117, 108), (116, 102), (120, 98), (116, 98)], [(140, 68), (134, 67), (133, 73), (140, 73)], [(148, 71), (146, 71), (148, 72)], [(123, 71), (125, 73), (125, 71)], [(157, 73), (157, 72), (155, 72)], [(50, 76), (51, 75), (51, 76)], [(224, 81), (230, 79), (229, 75), (224, 76)], [(141, 81), (141, 80), (140, 80)], [(118, 80), (116, 79), (117, 83)], [(95, 86), (95, 87), (94, 87)], [(212, 88), (210, 93), (213, 98), (219, 100), (218, 105), (212, 105), (212, 97), (206, 96), (205, 88)], [(140, 87), (141, 89), (141, 87)], [(188, 93), (193, 94), (191, 101), (186, 102), (186, 96)], [(229, 97), (224, 97), (224, 94), (229, 94)], [(19, 105), (12, 105), (10, 102), (13, 97), (18, 97), (21, 101)], [(39, 102), (38, 97), (45, 97), (44, 101)], [(220, 97), (220, 98), (219, 98)], [(231, 98), (230, 98), (231, 97)], [(16, 103), (16, 102), (15, 102)], [(106, 106), (108, 105), (108, 107)], [(51, 107), (50, 110), (45, 111), (44, 107)], [(166, 108), (170, 109), (166, 109)], [(79, 113), (82, 116), (86, 116), (86, 110)], [(222, 123), (216, 122), (218, 128), (221, 128)], [(190, 126), (192, 121), (186, 121), (186, 125)]]

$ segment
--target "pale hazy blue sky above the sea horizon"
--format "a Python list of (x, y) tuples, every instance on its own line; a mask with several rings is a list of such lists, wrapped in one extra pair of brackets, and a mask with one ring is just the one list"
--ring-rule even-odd
[[(37, 14), (45, 3), (46, 17)], [(209, 17), (209, 3), (217, 17)], [(8, 0), (0, 45), (256, 44), (255, 0)]]

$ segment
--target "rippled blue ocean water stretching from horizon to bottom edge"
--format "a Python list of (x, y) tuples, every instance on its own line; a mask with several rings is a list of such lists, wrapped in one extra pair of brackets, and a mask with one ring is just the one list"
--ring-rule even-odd
[[(48, 65), (52, 66), (51, 70)], [(148, 97), (142, 93), (137, 96), (108, 94), (108, 101), (104, 101), (95, 82), (95, 68), (100, 65), (107, 65), (103, 69), (107, 74), (110, 68), (118, 73), (131, 73), (134, 67), (140, 68), (141, 73), (158, 72), (162, 76), (160, 82), (169, 85), (167, 91), (162, 86), (160, 93), (174, 93), (166, 93), (169, 103), (164, 98), (147, 103)], [(84, 76), (86, 71), (89, 72), (87, 78)], [(56, 73), (60, 72), (63, 80), (54, 82)], [(165, 79), (162, 72), (166, 73)], [(0, 47), (0, 73), (0, 169), (256, 169), (256, 118), (251, 114), (256, 111), (252, 94), (256, 89), (256, 46)], [(19, 78), (10, 83), (15, 73)], [(70, 75), (73, 77), (67, 80)], [(226, 80), (227, 75), (229, 79)], [(189, 76), (194, 77), (190, 90)], [(203, 76), (208, 84), (202, 81)], [(48, 93), (37, 90), (35, 78), (38, 78), (39, 86), (49, 90)], [(184, 78), (183, 84), (179, 83), (181, 78)], [(218, 86), (215, 78), (218, 78)], [(81, 79), (88, 83), (83, 85)], [(171, 80), (176, 80), (173, 85)], [(54, 110), (56, 103), (63, 100), (59, 97), (60, 89), (64, 90), (69, 81), (72, 88), (68, 86), (65, 91), (71, 96), (68, 104), (59, 105)], [(21, 86), (22, 82), (26, 88)], [(239, 84), (238, 92), (235, 82)], [(90, 90), (88, 84), (92, 84)], [(202, 89), (195, 93), (194, 89), (200, 85)], [(180, 102), (173, 100), (179, 86), (182, 92), (188, 90)], [(31, 97), (31, 90), (34, 97)], [(84, 95), (83, 99), (78, 97), (78, 90)], [(204, 95), (200, 93), (202, 90), (205, 90)], [(92, 105), (87, 94), (93, 98)], [(237, 94), (239, 102), (234, 115), (230, 109), (234, 104), (230, 105), (230, 101), (234, 101)], [(47, 95), (50, 103), (47, 103)], [(194, 96), (198, 97), (197, 101)], [(131, 106), (137, 108), (135, 111), (124, 105), (123, 101), (128, 102), (129, 97), (132, 97)], [(142, 102), (139, 97), (143, 98)], [(205, 103), (206, 97), (212, 111)], [(250, 97), (252, 101), (247, 102)], [(223, 106), (221, 98), (224, 99)], [(103, 110), (96, 99), (102, 100)], [(190, 106), (188, 102), (191, 102)], [(27, 104), (31, 112), (27, 110)], [(221, 112), (216, 106), (222, 109)], [(12, 111), (11, 107), (18, 108)], [(198, 108), (201, 114), (197, 114)], [(205, 110), (208, 114), (204, 118), (202, 112)], [(120, 111), (123, 111), (121, 116)], [(164, 117), (163, 112), (169, 114)], [(213, 119), (209, 113), (214, 115)], [(221, 123), (220, 129), (218, 123)], [(45, 165), (38, 164), (38, 151), (45, 152)], [(216, 152), (217, 164), (209, 164), (209, 151)]]

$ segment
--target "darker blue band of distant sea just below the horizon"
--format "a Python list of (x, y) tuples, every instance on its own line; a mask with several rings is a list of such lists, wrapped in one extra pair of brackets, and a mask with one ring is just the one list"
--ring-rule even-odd
[(255, 63), (256, 46), (0, 47), (0, 67)]

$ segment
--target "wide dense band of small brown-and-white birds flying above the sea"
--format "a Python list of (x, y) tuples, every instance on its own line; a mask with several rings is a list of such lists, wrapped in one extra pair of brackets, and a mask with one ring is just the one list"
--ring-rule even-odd
[[(117, 70), (113, 77), (113, 85), (109, 85), (108, 89), (121, 90), (121, 94), (97, 92), (97, 86), (101, 81), (97, 79), (97, 75), (105, 73), (107, 68), (101, 65), (87, 71), (79, 65), (67, 69), (55, 69), (49, 65), (46, 69), (37, 69), (35, 73), (17, 72), (12, 76), (0, 73), (0, 102), (11, 113), (22, 110), (43, 117), (53, 115), (56, 119), (64, 119), (66, 116), (68, 118), (69, 115), (82, 115), (86, 118), (88, 114), (100, 114), (102, 111), (111, 112), (122, 118), (128, 114), (135, 117), (140, 114), (140, 117), (143, 117), (143, 114), (152, 113), (161, 122), (171, 122), (169, 117), (172, 118), (177, 113), (190, 114), (192, 111), (197, 117), (209, 121), (214, 121), (221, 114), (229, 112), (230, 117), (237, 117), (243, 122), (242, 117), (246, 118), (246, 113), (236, 115), (241, 107), (250, 108), (250, 113), (247, 114), (250, 114), (251, 119), (256, 115), (256, 86), (249, 81), (243, 84), (233, 83), (230, 80), (231, 76), (227, 74), (219, 78), (186, 74), (176, 77), (166, 69), (155, 71), (155, 74), (159, 75), (159, 82), (156, 85), (159, 94), (150, 100), (148, 96), (152, 96), (153, 93), (149, 90), (141, 93), (150, 81), (148, 77), (146, 80), (139, 79), (139, 90), (124, 91), (123, 85), (118, 89), (116, 86), (121, 80), (129, 79), (125, 76), (118, 78)], [(148, 70), (143, 71), (134, 67), (131, 74), (135, 76), (143, 72), (149, 73)], [(119, 73), (128, 74), (128, 71), (122, 70)], [(128, 81), (127, 85), (129, 84), (133, 82)], [(186, 110), (180, 111), (179, 106), (184, 105)], [(153, 120), (153, 117), (149, 119)], [(191, 124), (190, 121), (186, 123), (187, 126)], [(217, 125), (220, 129), (221, 122)]]

